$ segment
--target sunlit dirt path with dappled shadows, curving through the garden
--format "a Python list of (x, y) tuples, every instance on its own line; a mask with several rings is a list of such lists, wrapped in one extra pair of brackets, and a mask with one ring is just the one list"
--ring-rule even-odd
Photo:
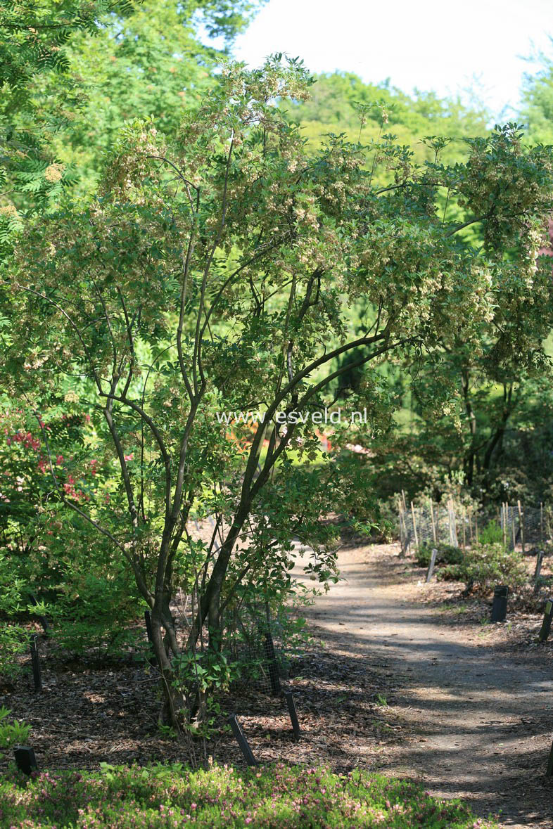
[(328, 647), (385, 657), (397, 679), (388, 703), (405, 740), (371, 768), (422, 778), (431, 793), (465, 797), (483, 817), (498, 813), (505, 827), (551, 829), (551, 663), (441, 622), (416, 600), (423, 588), (412, 574), (406, 580), (390, 545), (344, 550), (340, 569), (344, 580), (308, 618)]

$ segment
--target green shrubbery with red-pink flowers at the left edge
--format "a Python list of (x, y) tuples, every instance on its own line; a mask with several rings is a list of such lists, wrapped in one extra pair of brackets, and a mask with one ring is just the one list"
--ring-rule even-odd
[(109, 470), (94, 452), (83, 457), (84, 445), (93, 445), (90, 418), (68, 414), (65, 401), (60, 414), (50, 402), (47, 414), (38, 417), (12, 409), (0, 415), (4, 674), (17, 671), (14, 657), (25, 647), (17, 618), (39, 612), (31, 595), (42, 603), (41, 614), (51, 618), (53, 641), (70, 652), (104, 656), (135, 639), (128, 629), (139, 608), (132, 577), (109, 540), (62, 502), (63, 496), (80, 504), (91, 495), (109, 497)]

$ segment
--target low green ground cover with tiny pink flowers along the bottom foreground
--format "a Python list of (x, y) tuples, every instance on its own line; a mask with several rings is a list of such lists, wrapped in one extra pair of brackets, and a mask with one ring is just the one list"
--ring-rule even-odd
[(334, 774), (283, 764), (240, 771), (190, 771), (181, 764), (99, 772), (12, 769), (0, 779), (0, 826), (35, 829), (472, 829), (496, 827), (458, 800), (431, 797), (418, 783), (364, 771)]

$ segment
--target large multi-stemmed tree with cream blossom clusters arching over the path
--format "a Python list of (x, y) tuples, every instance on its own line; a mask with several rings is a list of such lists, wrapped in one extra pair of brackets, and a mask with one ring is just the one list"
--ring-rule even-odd
[[(526, 151), (512, 124), (473, 139), (451, 167), (441, 143), (422, 166), (389, 138), (367, 148), (331, 137), (309, 151), (274, 101), (306, 97), (310, 80), (280, 56), (261, 70), (226, 65), (176, 141), (152, 121), (129, 125), (97, 200), (29, 223), (4, 274), (2, 382), (38, 412), (64, 376), (119, 464), (109, 509), (60, 496), (133, 570), (175, 727), (198, 705), (183, 659), (205, 628), (211, 658), (224, 656), (227, 609), (245, 585), (285, 583), (294, 534), (313, 548), (313, 576), (332, 577), (322, 518), (352, 495), (348, 465), (316, 451), (332, 384), (362, 367), (348, 405), (383, 428), (393, 400), (378, 366), (443, 342), (478, 350), (497, 296), (526, 296), (551, 210), (551, 152)], [(379, 166), (386, 185), (373, 180)], [(440, 191), (462, 221), (437, 211)], [(479, 249), (463, 238), (473, 225)], [(505, 333), (504, 356), (525, 348)], [(350, 438), (358, 429), (342, 424)], [(45, 429), (42, 439), (53, 458)], [(210, 542), (190, 535), (195, 514), (216, 516)], [(197, 603), (184, 642), (176, 578)]]

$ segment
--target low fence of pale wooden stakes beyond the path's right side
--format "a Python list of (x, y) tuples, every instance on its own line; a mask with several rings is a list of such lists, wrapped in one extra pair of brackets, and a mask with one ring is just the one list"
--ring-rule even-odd
[(405, 492), (398, 498), (401, 550), (405, 554), (420, 545), (446, 544), (470, 547), (478, 541), (502, 541), (507, 548), (536, 553), (551, 544), (553, 511), (540, 504), (528, 507), (503, 503), (494, 507), (464, 507), (453, 500), (407, 504)]

